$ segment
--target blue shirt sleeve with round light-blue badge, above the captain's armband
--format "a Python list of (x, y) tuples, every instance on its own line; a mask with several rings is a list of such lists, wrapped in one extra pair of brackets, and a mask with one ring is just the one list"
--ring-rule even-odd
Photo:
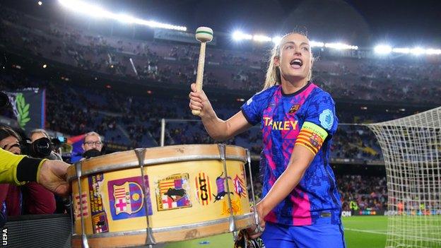
[(319, 91), (312, 95), (305, 122), (321, 126), (328, 132), (329, 138), (336, 133), (339, 119), (336, 116), (335, 102), (329, 93)]

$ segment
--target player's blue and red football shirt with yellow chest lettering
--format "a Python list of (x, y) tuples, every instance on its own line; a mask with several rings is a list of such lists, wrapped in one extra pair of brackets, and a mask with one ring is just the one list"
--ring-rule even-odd
[(261, 124), (262, 197), (286, 170), (294, 146), (305, 146), (315, 155), (299, 184), (265, 220), (283, 225), (340, 224), (340, 196), (329, 166), (331, 138), (338, 125), (331, 95), (311, 82), (289, 95), (276, 85), (250, 98), (242, 113), (250, 124)]

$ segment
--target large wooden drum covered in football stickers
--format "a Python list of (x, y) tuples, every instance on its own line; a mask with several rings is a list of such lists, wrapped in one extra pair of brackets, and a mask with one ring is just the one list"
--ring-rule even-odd
[(244, 148), (219, 144), (139, 148), (76, 163), (68, 170), (72, 247), (134, 247), (254, 225), (247, 160)]

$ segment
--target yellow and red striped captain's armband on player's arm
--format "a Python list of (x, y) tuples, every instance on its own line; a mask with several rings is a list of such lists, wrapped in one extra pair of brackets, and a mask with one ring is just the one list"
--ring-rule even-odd
[(300, 129), (297, 140), (295, 140), (295, 146), (305, 146), (316, 155), (327, 136), (327, 131), (321, 126), (312, 122), (305, 122), (303, 123), (302, 129)]

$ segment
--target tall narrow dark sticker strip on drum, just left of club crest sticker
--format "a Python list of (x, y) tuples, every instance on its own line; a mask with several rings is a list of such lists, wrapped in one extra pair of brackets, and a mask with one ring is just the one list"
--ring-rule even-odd
[(93, 233), (109, 232), (107, 215), (102, 207), (102, 184), (104, 176), (102, 173), (88, 177), (90, 213), (92, 215)]

